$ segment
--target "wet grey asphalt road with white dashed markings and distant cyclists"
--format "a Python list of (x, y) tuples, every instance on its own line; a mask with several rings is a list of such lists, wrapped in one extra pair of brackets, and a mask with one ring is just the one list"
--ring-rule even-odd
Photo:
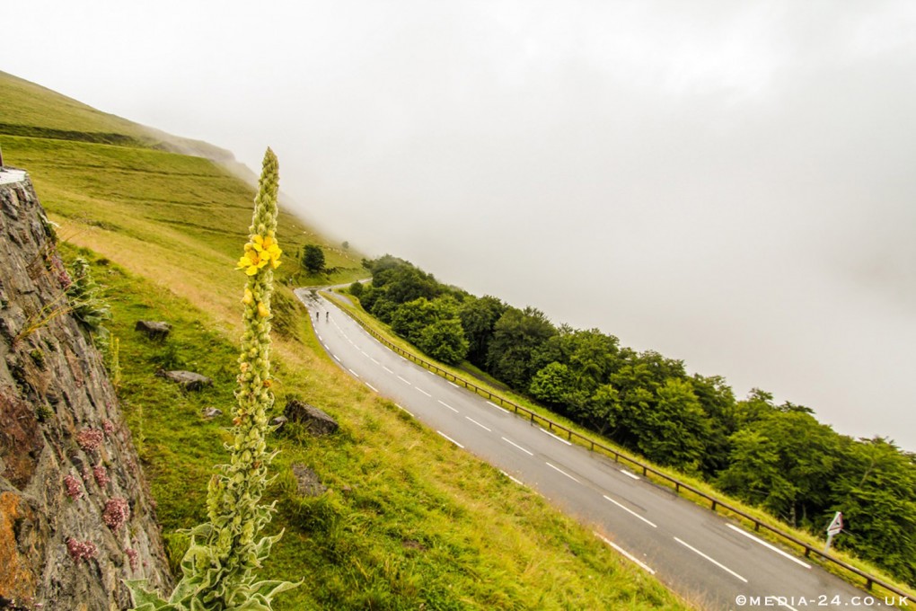
[(537, 490), (688, 600), (707, 609), (882, 606), (882, 597), (867, 605), (866, 592), (820, 567), (396, 355), (310, 290), (297, 293), (350, 375)]

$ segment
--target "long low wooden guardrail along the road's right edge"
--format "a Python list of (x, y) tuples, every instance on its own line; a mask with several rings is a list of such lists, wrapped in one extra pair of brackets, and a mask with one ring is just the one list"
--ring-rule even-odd
[(551, 432), (553, 432), (554, 430), (560, 431), (566, 435), (566, 438), (570, 442), (576, 442), (585, 447), (588, 447), (589, 450), (591, 450), (592, 452), (605, 453), (605, 455), (607, 455), (608, 457), (613, 457), (616, 463), (627, 464), (635, 468), (636, 470), (640, 471), (642, 475), (644, 476), (652, 475), (653, 477), (660, 479), (668, 483), (669, 485), (673, 486), (674, 491), (678, 493), (679, 495), (682, 494), (682, 491), (688, 491), (695, 496), (699, 496), (700, 498), (703, 498), (704, 500), (710, 503), (710, 508), (714, 512), (718, 512), (718, 510), (721, 508), (721, 509), (724, 509), (725, 511), (729, 511), (733, 514), (736, 514), (737, 516), (740, 516), (741, 518), (745, 518), (747, 519), (747, 521), (751, 522), (754, 525), (755, 531), (759, 532), (761, 529), (767, 530), (770, 533), (776, 535), (777, 537), (790, 541), (791, 543), (799, 546), (804, 551), (805, 558), (811, 558), (813, 555), (815, 558), (819, 558), (823, 562), (832, 563), (844, 569), (845, 571), (849, 573), (853, 573), (857, 577), (862, 578), (863, 580), (865, 580), (865, 588), (869, 592), (871, 591), (874, 585), (878, 585), (884, 588), (885, 590), (887, 590), (889, 593), (899, 596), (901, 603), (906, 604), (906, 602), (908, 601), (916, 601), (916, 596), (912, 595), (911, 593), (904, 592), (900, 588), (892, 584), (888, 584), (887, 582), (880, 579), (879, 577), (866, 573), (865, 571), (859, 568), (856, 568), (855, 566), (849, 564), (848, 562), (844, 562), (842, 560), (839, 560), (838, 558), (834, 558), (833, 556), (829, 555), (828, 553), (818, 548), (813, 547), (810, 543), (802, 541), (798, 539), (797, 537), (795, 537), (794, 535), (791, 535), (790, 533), (782, 529), (778, 529), (774, 526), (770, 526), (766, 522), (761, 522), (758, 518), (754, 518), (753, 516), (747, 514), (747, 512), (743, 511), (742, 509), (734, 507), (730, 505), (729, 503), (726, 503), (725, 501), (719, 498), (716, 498), (715, 496), (707, 495), (702, 490), (699, 490), (698, 488), (691, 486), (690, 484), (682, 482), (681, 480), (677, 479), (676, 477), (672, 477), (671, 475), (662, 473), (658, 469), (650, 466), (649, 464), (640, 463), (638, 460), (630, 458), (629, 456), (625, 454), (619, 453), (614, 448), (606, 446), (604, 443), (595, 442), (593, 439), (590, 439), (577, 431), (573, 431), (569, 427), (563, 426), (562, 424), (558, 422), (554, 422), (553, 420), (549, 418), (545, 418), (541, 416), (540, 414), (536, 413), (535, 411), (532, 411), (531, 409), (518, 405), (518, 403), (514, 401), (510, 401), (507, 398), (502, 398), (499, 395), (496, 395), (493, 392), (487, 390), (486, 388), (478, 387), (476, 384), (464, 379), (463, 377), (455, 376), (452, 372), (442, 369), (442, 367), (436, 365), (435, 363), (432, 363), (431, 361), (427, 361), (426, 359), (420, 358), (420, 356), (414, 355), (408, 352), (407, 350), (404, 350), (400, 346), (393, 344), (381, 333), (376, 332), (375, 329), (367, 325), (365, 322), (359, 320), (359, 318), (350, 314), (350, 312), (346, 312), (346, 313), (357, 324), (363, 327), (366, 333), (369, 333), (370, 335), (372, 335), (374, 338), (376, 338), (376, 340), (378, 340), (378, 342), (387, 346), (387, 348), (394, 351), (396, 354), (401, 355), (409, 359), (410, 361), (413, 361), (417, 365), (420, 365), (420, 366), (423, 366), (429, 369), (431, 372), (437, 374), (438, 376), (442, 376), (445, 379), (454, 382), (455, 384), (460, 384), (463, 387), (467, 388), (468, 390), (473, 390), (474, 393), (476, 393), (477, 395), (481, 397), (485, 397), (489, 401), (498, 402), (500, 407), (504, 409), (511, 408), (513, 412), (515, 412), (517, 415), (519, 413), (525, 414), (526, 418), (528, 418), (532, 424), (537, 424), (541, 427), (546, 427), (547, 430)]

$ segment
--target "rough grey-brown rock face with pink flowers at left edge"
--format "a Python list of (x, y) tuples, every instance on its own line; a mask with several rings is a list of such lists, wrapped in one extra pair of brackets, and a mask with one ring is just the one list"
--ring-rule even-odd
[(123, 609), (123, 579), (171, 587), (130, 431), (68, 310), (70, 282), (31, 182), (0, 184), (0, 609)]

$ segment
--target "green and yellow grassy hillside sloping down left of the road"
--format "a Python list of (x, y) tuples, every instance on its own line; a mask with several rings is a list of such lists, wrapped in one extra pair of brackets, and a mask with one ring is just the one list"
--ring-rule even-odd
[[(143, 128), (2, 73), (0, 99), (12, 101), (0, 125), (6, 164), (29, 171), (64, 254), (90, 258), (107, 290), (120, 342), (115, 382), (174, 564), (186, 544), (177, 530), (202, 521), (206, 481), (224, 461), (244, 282), (234, 262), (254, 192), (205, 158), (161, 150)], [(289, 213), (279, 240), (288, 254), (324, 246), (338, 268), (332, 281), (362, 275), (357, 254), (323, 244)], [(301, 276), (294, 258), (278, 270), (274, 301), (278, 407), (302, 398), (341, 431), (273, 439), (272, 528), (285, 534), (264, 574), (305, 582), (276, 608), (688, 608), (590, 529), (345, 376), (289, 290), (329, 278)], [(150, 343), (133, 329), (139, 319), (174, 330)], [(154, 375), (158, 367), (199, 371), (213, 388), (182, 393)], [(206, 407), (226, 415), (205, 420)], [(331, 491), (298, 496), (295, 462)]]

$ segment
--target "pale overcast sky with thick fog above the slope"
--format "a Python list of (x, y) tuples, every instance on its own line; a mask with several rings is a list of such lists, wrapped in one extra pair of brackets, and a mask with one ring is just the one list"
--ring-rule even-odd
[(2, 70), (253, 168), (273, 147), (367, 254), (916, 450), (911, 0), (4, 13)]

